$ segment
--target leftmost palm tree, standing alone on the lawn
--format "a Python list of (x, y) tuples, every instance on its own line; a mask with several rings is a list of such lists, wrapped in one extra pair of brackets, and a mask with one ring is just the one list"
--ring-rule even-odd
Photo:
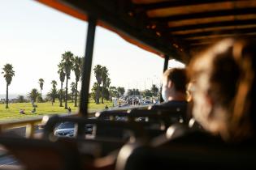
[(6, 79), (7, 81), (7, 101), (6, 101), (6, 108), (9, 108), (8, 107), (8, 87), (9, 85), (11, 84), (11, 80), (12, 80), (12, 77), (15, 76), (15, 71), (13, 70), (13, 66), (11, 64), (6, 64), (5, 66), (3, 66), (2, 68), (2, 74), (3, 74), (3, 77)]

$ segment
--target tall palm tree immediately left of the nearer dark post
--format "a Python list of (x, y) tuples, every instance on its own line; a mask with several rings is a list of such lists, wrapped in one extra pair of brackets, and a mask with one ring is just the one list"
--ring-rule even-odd
[(79, 82), (80, 77), (81, 77), (82, 64), (83, 64), (82, 57), (77, 57), (77, 56), (74, 57), (72, 70), (75, 72), (75, 76), (76, 76), (75, 107), (77, 107), (77, 91), (78, 91), (77, 83)]

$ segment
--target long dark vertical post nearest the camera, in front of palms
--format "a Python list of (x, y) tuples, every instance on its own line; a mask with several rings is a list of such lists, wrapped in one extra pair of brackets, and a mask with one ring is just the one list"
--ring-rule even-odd
[(84, 117), (88, 116), (89, 83), (93, 62), (93, 45), (96, 23), (97, 19), (89, 16), (84, 66), (82, 72), (82, 87), (80, 92), (80, 114)]

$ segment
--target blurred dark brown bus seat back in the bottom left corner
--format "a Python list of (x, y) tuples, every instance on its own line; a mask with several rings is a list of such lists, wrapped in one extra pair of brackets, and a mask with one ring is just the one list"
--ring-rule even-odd
[(11, 138), (4, 135), (0, 144), (10, 151), (27, 170), (72, 170), (81, 169), (76, 150), (59, 142), (41, 139)]

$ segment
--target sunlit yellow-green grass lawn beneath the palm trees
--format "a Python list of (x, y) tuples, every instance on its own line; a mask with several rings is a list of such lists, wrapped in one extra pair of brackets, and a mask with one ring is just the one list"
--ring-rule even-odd
[[(59, 107), (59, 102), (51, 104), (51, 102), (46, 103), (36, 103), (37, 112), (31, 113), (33, 110), (31, 103), (14, 103), (9, 104), (9, 108), (5, 108), (6, 104), (0, 104), (0, 121), (11, 121), (11, 120), (20, 120), (27, 117), (38, 117), (49, 114), (67, 114), (67, 110), (64, 107)], [(105, 108), (106, 104), (109, 108), (112, 106), (112, 102), (104, 101), (104, 104), (95, 104), (93, 100), (89, 102), (89, 112), (95, 112), (97, 110), (102, 110)], [(63, 103), (63, 106), (65, 103)], [(69, 101), (67, 107), (72, 108), (72, 113), (78, 111), (78, 107), (74, 107), (74, 103)], [(25, 114), (20, 114), (20, 109), (24, 109)]]

